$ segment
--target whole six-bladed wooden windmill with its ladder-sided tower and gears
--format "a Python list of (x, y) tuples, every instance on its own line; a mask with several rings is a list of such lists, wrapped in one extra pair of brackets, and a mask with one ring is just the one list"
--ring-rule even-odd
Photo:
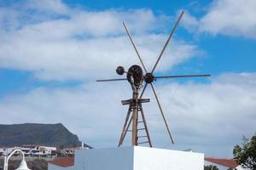
[[(154, 89), (154, 81), (157, 79), (164, 79), (164, 78), (183, 78), (183, 77), (210, 77), (210, 75), (204, 74), (204, 75), (172, 75), (172, 76), (155, 76), (154, 71), (156, 66), (159, 64), (159, 61), (164, 54), (166, 47), (168, 43), (170, 42), (172, 35), (174, 31), (177, 28), (178, 23), (183, 17), (184, 12), (182, 12), (177, 22), (175, 23), (172, 32), (170, 36), (168, 37), (164, 47), (162, 48), (160, 55), (158, 59), (156, 60), (154, 67), (152, 71), (147, 71), (145, 65), (143, 64), (143, 59), (141, 58), (140, 54), (137, 51), (137, 47), (135, 42), (133, 41), (130, 31), (128, 30), (128, 27), (125, 25), (125, 22), (123, 23), (125, 27), (125, 31), (127, 32), (128, 37), (131, 40), (131, 44), (133, 48), (135, 49), (137, 53), (137, 57), (140, 60), (141, 65), (131, 65), (131, 67), (128, 69), (128, 71), (125, 71), (125, 68), (123, 66), (118, 66), (116, 69), (116, 73), (119, 75), (126, 75), (125, 78), (116, 78), (116, 79), (105, 79), (105, 80), (97, 80), (96, 82), (110, 82), (110, 81), (128, 81), (131, 84), (132, 88), (132, 98), (127, 100), (122, 100), (122, 105), (129, 105), (128, 112), (125, 118), (125, 124), (122, 129), (122, 133), (120, 135), (119, 139), (119, 146), (123, 144), (123, 141), (125, 139), (126, 133), (131, 132), (131, 144), (132, 145), (138, 145), (138, 144), (148, 144), (150, 147), (152, 147), (152, 143), (149, 137), (148, 133), (148, 126), (147, 122), (144, 116), (143, 112), (143, 103), (149, 102), (149, 99), (143, 99), (143, 94), (145, 92), (145, 89), (148, 87), (148, 85), (152, 88), (155, 99), (157, 101), (157, 105), (160, 109), (160, 114), (165, 122), (167, 133), (172, 141), (172, 144), (174, 144), (174, 139), (172, 138), (172, 133), (170, 130), (170, 127), (168, 126), (168, 123), (166, 122), (166, 116), (164, 115), (164, 112), (162, 110), (162, 107), (160, 105), (160, 99), (158, 98), (155, 89)], [(142, 90), (142, 91), (141, 91)], [(140, 93), (141, 91), (141, 93)], [(141, 132), (144, 131), (145, 135), (141, 135)]]

